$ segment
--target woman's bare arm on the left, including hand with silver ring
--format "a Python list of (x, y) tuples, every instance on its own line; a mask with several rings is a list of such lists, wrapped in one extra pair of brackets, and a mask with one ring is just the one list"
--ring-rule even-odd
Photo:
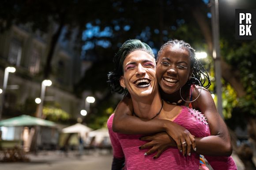
[[(191, 148), (196, 148), (194, 137), (184, 127), (163, 119), (145, 119), (132, 116), (132, 100), (124, 97), (118, 104), (114, 119), (113, 131), (125, 134), (152, 134), (167, 132), (177, 144), (179, 151), (191, 152)], [(186, 144), (181, 144), (186, 141)]]

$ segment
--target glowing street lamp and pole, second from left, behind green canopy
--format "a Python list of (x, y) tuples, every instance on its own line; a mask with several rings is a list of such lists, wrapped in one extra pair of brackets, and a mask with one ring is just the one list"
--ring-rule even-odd
[[(50, 81), (50, 80), (44, 80), (44, 81), (42, 81), (42, 83), (41, 83), (41, 95), (40, 95), (40, 99), (37, 98), (36, 101), (35, 101), (36, 103), (39, 103), (39, 105), (38, 105), (38, 111), (37, 111), (37, 117), (38, 117), (38, 118), (41, 118), (41, 117), (42, 117), (43, 104), (44, 104), (44, 100), (45, 100), (45, 88), (46, 88), (46, 86), (50, 86), (50, 85), (52, 85), (52, 81)], [(39, 100), (41, 100), (41, 101), (39, 102)]]

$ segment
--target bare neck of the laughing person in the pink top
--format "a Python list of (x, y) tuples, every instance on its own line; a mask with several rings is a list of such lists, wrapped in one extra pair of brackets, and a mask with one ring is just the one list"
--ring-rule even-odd
[(132, 97), (133, 109), (139, 118), (154, 118), (154, 116), (161, 110), (162, 99), (160, 93), (157, 91), (151, 96), (136, 99)]

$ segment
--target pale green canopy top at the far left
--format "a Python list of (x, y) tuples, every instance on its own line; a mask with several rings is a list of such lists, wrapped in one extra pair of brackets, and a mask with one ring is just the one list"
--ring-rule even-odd
[(0, 126), (56, 126), (56, 124), (42, 118), (21, 115), (0, 121)]

